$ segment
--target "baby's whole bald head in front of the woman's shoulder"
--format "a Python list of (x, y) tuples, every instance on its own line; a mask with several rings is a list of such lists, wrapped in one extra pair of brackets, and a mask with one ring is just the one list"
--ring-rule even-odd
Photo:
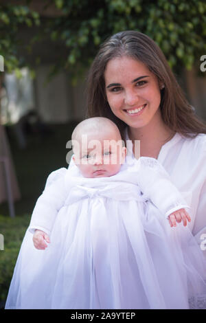
[(110, 177), (124, 163), (126, 147), (117, 126), (95, 117), (76, 126), (72, 135), (73, 161), (84, 177)]

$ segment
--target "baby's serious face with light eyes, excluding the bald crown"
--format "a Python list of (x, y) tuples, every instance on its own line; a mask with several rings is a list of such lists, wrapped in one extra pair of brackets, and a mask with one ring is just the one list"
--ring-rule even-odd
[(73, 160), (84, 177), (95, 178), (117, 174), (125, 157), (126, 148), (122, 140), (113, 131), (105, 135), (103, 129), (98, 133), (82, 135), (74, 150)]

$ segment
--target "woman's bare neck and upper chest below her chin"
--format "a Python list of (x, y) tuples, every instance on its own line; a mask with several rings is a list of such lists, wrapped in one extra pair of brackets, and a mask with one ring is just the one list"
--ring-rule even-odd
[[(174, 136), (161, 118), (150, 122), (142, 128), (128, 128), (128, 136), (133, 144), (135, 140), (140, 140), (140, 156), (153, 157), (157, 159), (161, 147)], [(133, 145), (135, 146), (135, 145)]]

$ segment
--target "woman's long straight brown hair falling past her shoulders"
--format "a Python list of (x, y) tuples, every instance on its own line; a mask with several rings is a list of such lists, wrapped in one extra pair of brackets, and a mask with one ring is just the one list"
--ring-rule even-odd
[(157, 76), (159, 83), (163, 83), (161, 115), (163, 122), (172, 131), (185, 137), (196, 137), (199, 133), (206, 133), (205, 124), (187, 102), (161, 49), (146, 34), (136, 31), (119, 32), (108, 38), (100, 47), (87, 78), (87, 117), (109, 118), (117, 124), (123, 135), (126, 124), (111, 111), (104, 82), (104, 71), (108, 61), (122, 56), (141, 61)]

